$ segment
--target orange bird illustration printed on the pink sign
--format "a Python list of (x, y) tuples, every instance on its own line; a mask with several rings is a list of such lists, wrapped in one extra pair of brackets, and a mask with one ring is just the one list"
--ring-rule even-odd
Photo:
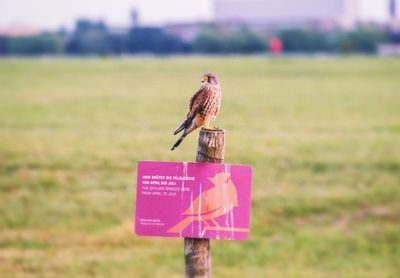
[(208, 179), (214, 187), (200, 193), (183, 212), (182, 215), (186, 218), (170, 228), (168, 233), (181, 233), (193, 221), (201, 221), (206, 227), (210, 227), (207, 221), (211, 221), (216, 227), (220, 227), (215, 218), (239, 206), (236, 187), (229, 173), (218, 173)]

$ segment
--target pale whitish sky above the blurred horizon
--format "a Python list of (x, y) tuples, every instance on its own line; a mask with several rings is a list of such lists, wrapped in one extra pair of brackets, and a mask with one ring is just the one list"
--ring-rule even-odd
[[(48, 30), (70, 29), (77, 18), (101, 19), (110, 25), (124, 27), (129, 25), (133, 8), (138, 9), (142, 25), (210, 20), (213, 17), (212, 1), (0, 0), (0, 27), (24, 24)], [(361, 0), (361, 18), (384, 21), (387, 18), (387, 1)]]

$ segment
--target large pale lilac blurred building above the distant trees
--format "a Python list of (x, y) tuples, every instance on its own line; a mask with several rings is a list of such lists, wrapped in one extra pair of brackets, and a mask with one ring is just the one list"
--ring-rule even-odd
[(245, 24), (255, 29), (291, 27), (352, 28), (359, 0), (214, 0), (220, 24)]

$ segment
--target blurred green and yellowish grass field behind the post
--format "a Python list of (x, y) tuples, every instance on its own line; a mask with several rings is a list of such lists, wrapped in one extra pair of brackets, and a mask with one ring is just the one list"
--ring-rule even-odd
[(0, 276), (182, 277), (180, 239), (132, 233), (139, 160), (171, 152), (221, 77), (226, 162), (254, 167), (251, 237), (215, 277), (400, 277), (400, 59), (0, 60)]

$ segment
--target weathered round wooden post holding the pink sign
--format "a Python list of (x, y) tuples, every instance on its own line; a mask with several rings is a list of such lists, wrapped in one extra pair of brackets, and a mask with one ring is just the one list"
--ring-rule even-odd
[[(224, 163), (225, 131), (200, 130), (196, 162)], [(208, 238), (185, 238), (186, 277), (211, 277), (211, 245)]]

